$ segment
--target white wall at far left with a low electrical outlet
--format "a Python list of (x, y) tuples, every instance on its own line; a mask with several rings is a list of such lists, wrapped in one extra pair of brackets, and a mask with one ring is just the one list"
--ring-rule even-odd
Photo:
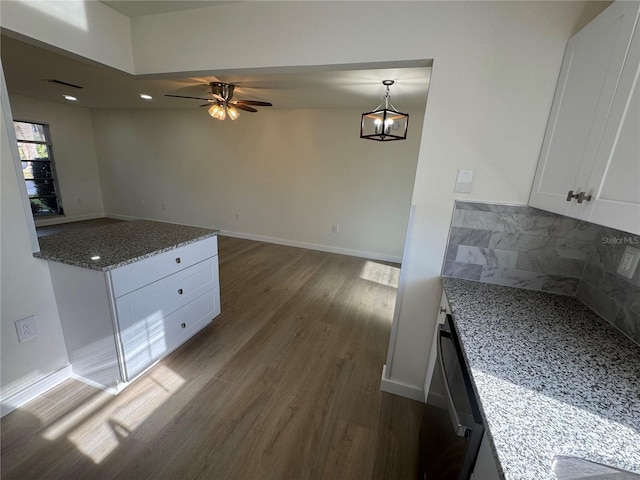
[[(4, 79), (2, 81), (4, 83)], [(13, 125), (5, 121), (5, 116), (11, 119), (11, 112), (4, 96), (2, 110), (3, 116), (0, 118), (2, 123), (0, 125), (2, 148), (0, 385), (2, 410), (5, 413), (29, 398), (29, 393), (25, 394), (25, 389), (29, 390), (28, 387), (32, 387), (30, 394), (33, 396), (42, 393), (47, 386), (51, 386), (48, 380), (64, 370), (69, 360), (62, 337), (49, 265), (44, 260), (35, 259), (31, 253), (28, 222), (33, 224), (33, 220), (30, 216), (25, 217), (23, 210), (12, 152), (15, 150), (17, 155), (17, 150), (7, 132), (7, 127), (13, 128)], [(36, 316), (39, 336), (27, 342), (18, 343), (14, 322), (30, 315)], [(62, 377), (65, 375), (68, 373), (63, 374)], [(60, 378), (59, 375), (58, 378)]]

